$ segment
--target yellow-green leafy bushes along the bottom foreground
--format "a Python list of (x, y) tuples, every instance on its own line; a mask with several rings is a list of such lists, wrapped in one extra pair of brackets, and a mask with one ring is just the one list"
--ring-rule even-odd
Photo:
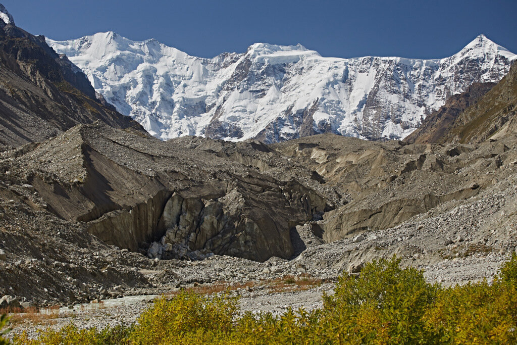
[[(444, 288), (400, 260), (373, 261), (342, 275), (323, 308), (239, 314), (228, 294), (184, 292), (157, 299), (131, 326), (68, 325), (16, 344), (515, 344), (517, 257), (486, 281)], [(0, 341), (1, 343), (1, 341)]]

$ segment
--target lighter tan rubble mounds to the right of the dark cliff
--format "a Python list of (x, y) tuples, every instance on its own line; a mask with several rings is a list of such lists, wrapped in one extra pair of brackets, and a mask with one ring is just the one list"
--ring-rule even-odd
[[(442, 203), (472, 198), (493, 183), (483, 171), (497, 172), (513, 159), (509, 147), (497, 141), (409, 145), (327, 134), (269, 147), (294, 164), (305, 162), (326, 185), (336, 186), (338, 206), (317, 222), (327, 242), (394, 227)], [(488, 157), (493, 165), (483, 166)]]

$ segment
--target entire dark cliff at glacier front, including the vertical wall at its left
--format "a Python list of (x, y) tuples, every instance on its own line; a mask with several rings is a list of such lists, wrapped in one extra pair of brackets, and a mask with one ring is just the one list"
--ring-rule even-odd
[(322, 197), (296, 182), (266, 190), (237, 185), (209, 197), (188, 189), (161, 189), (131, 209), (116, 209), (88, 222), (88, 229), (104, 242), (131, 250), (166, 236), (164, 244), (265, 261), (291, 257), (290, 229), (323, 214), (326, 207)]

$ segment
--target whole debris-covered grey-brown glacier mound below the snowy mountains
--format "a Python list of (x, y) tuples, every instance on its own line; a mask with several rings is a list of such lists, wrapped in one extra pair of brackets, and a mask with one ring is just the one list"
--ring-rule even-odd
[(482, 172), (511, 163), (511, 152), (498, 141), (433, 146), (334, 134), (269, 146), (162, 142), (98, 123), (19, 155), (45, 207), (105, 243), (161, 259), (265, 261), (291, 257), (292, 230), (309, 221), (331, 242), (473, 197), (492, 183)]

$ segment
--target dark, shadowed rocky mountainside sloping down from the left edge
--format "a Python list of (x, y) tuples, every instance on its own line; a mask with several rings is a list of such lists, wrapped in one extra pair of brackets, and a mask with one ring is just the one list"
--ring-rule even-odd
[(42, 141), (95, 121), (147, 135), (138, 123), (103, 106), (84, 73), (44, 37), (6, 25), (0, 28), (0, 58), (0, 145)]

